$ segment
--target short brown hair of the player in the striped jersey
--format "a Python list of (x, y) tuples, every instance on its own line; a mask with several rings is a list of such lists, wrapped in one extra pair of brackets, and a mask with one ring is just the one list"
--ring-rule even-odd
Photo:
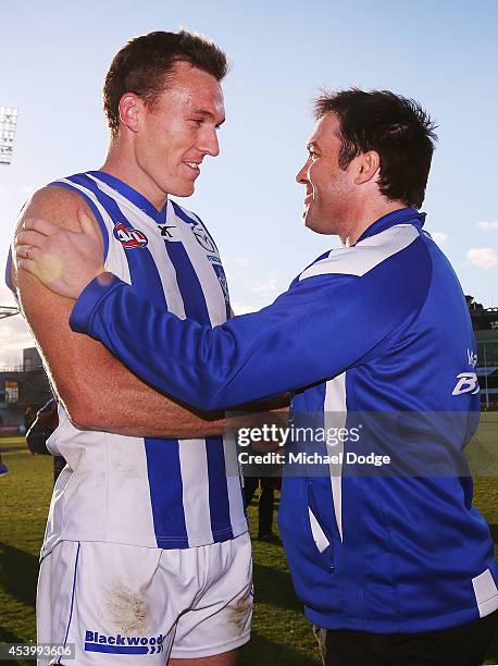
[(212, 74), (216, 81), (228, 71), (225, 53), (213, 41), (186, 30), (149, 33), (132, 39), (116, 53), (103, 86), (103, 108), (113, 135), (120, 126), (123, 95), (135, 92), (153, 109), (178, 61)]

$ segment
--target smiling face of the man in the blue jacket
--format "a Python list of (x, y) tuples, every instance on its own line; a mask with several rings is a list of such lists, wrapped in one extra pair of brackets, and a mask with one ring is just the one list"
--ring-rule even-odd
[(306, 186), (304, 224), (319, 234), (337, 234), (352, 201), (352, 177), (339, 166), (339, 120), (323, 115), (308, 143), (308, 159), (296, 176)]

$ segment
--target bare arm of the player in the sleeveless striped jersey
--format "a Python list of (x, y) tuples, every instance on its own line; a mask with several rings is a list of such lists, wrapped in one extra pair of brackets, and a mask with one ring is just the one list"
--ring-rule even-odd
[[(79, 211), (79, 212), (78, 212)], [(82, 214), (83, 212), (83, 214)], [(97, 252), (95, 263), (103, 262), (103, 244), (91, 212), (75, 193), (46, 187), (36, 193), (23, 210), (17, 237), (27, 219), (43, 218), (55, 229), (78, 234), (82, 261)], [(85, 225), (82, 234), (80, 220)], [(86, 238), (86, 244), (84, 242)], [(26, 248), (24, 248), (25, 251)], [(18, 256), (22, 256), (23, 248)], [(29, 252), (28, 252), (29, 254)], [(83, 256), (83, 259), (82, 259)], [(104, 430), (134, 436), (198, 437), (224, 430), (222, 418), (197, 415), (130, 373), (100, 343), (73, 333), (69, 318), (73, 301), (52, 293), (42, 281), (60, 274), (62, 264), (43, 254), (40, 280), (14, 262), (12, 279), (17, 287), (23, 313), (46, 360), (50, 379), (71, 420), (86, 430)], [(38, 260), (40, 260), (40, 255)], [(73, 257), (74, 261), (74, 257)], [(90, 263), (94, 275), (98, 268)], [(51, 272), (50, 272), (51, 271)], [(64, 273), (65, 274), (65, 273)]]

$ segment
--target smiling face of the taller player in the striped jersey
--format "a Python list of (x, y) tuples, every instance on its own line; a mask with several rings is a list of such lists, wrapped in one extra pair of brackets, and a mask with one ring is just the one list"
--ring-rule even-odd
[(161, 193), (188, 197), (204, 157), (220, 152), (217, 127), (224, 120), (219, 82), (178, 62), (153, 109), (142, 108), (135, 140), (138, 166)]

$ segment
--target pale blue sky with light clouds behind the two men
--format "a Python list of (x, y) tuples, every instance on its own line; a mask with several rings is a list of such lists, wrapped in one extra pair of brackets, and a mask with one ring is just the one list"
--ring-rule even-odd
[[(320, 89), (351, 85), (415, 98), (439, 140), (422, 210), (465, 294), (498, 306), (498, 46), (495, 0), (3, 1), (0, 104), (18, 108), (14, 157), (0, 165), (0, 261), (20, 208), (39, 187), (99, 168), (108, 131), (101, 88), (130, 38), (180, 27), (228, 54), (221, 155), (179, 202), (216, 239), (235, 310), (263, 307), (333, 236), (303, 227), (295, 181)], [(12, 296), (0, 286), (0, 305)], [(0, 320), (0, 367), (33, 338)]]

